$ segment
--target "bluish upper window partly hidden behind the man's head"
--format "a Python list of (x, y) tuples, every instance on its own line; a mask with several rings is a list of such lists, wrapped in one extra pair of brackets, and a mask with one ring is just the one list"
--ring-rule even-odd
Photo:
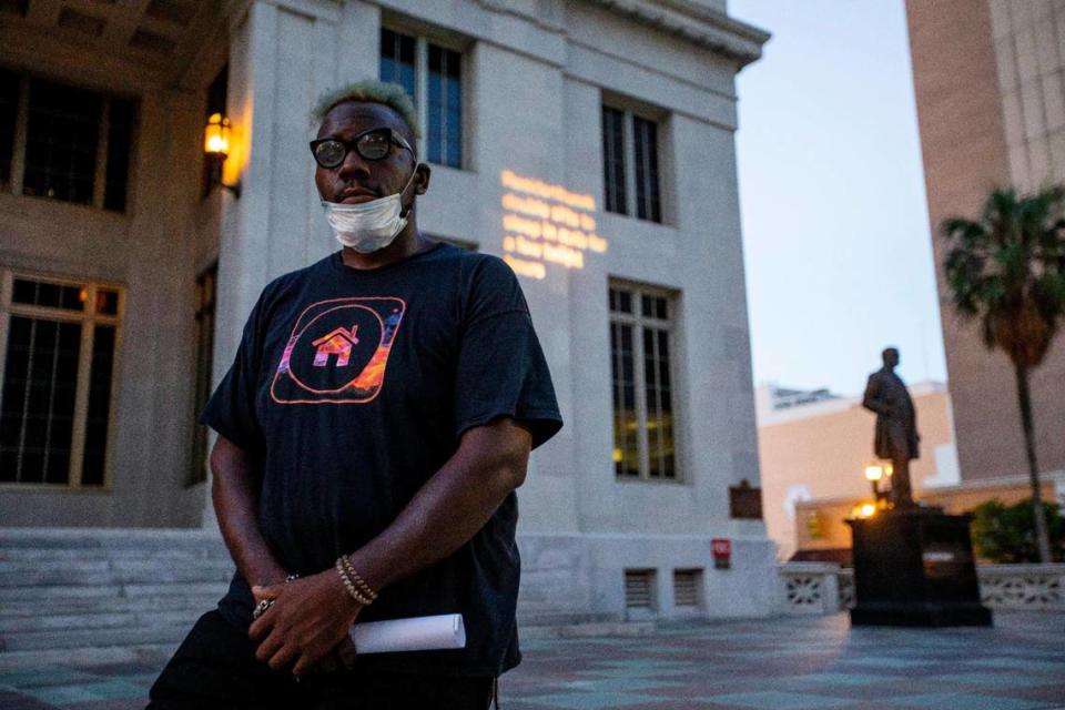
[(414, 99), (430, 163), (463, 166), (463, 54), (424, 37), (381, 30), (381, 80), (397, 83)]

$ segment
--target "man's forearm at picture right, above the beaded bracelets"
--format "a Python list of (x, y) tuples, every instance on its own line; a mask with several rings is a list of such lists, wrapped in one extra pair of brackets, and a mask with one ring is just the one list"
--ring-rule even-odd
[(381, 590), (469, 541), (525, 480), (531, 436), (510, 419), (470, 429), (458, 452), (381, 535), (349, 558)]

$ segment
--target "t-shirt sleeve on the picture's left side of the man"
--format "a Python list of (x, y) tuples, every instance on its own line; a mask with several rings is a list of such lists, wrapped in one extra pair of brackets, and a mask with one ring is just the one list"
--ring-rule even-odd
[(200, 414), (205, 424), (245, 452), (261, 452), (265, 437), (255, 412), (255, 393), (261, 374), (262, 297), (252, 308), (230, 371)]

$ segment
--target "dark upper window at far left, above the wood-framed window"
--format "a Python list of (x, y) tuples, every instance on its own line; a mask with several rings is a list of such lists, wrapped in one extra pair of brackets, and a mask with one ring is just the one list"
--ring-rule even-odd
[(133, 101), (0, 70), (0, 185), (124, 212)]

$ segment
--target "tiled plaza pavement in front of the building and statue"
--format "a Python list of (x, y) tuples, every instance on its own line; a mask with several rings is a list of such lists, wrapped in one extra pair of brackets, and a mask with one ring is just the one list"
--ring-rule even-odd
[[(529, 640), (505, 710), (1065, 709), (1065, 615), (993, 629), (851, 629), (844, 615), (677, 625), (638, 638)], [(143, 708), (148, 666), (0, 673), (4, 710)]]

